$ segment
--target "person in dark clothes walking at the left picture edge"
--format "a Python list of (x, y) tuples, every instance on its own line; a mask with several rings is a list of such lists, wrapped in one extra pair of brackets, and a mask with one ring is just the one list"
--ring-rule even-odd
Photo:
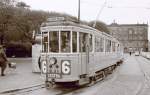
[(4, 52), (3, 46), (0, 45), (0, 67), (1, 67), (1, 76), (5, 76), (4, 71), (7, 67), (7, 57)]

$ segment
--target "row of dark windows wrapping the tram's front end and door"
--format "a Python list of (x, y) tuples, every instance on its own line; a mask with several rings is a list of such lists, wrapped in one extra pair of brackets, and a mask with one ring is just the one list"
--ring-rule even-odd
[[(89, 40), (87, 40), (87, 38), (89, 38)], [(88, 35), (88, 33), (77, 33), (75, 31), (49, 31), (42, 33), (43, 52), (86, 52), (87, 43), (89, 43), (89, 51), (91, 52), (93, 48), (92, 35)]]

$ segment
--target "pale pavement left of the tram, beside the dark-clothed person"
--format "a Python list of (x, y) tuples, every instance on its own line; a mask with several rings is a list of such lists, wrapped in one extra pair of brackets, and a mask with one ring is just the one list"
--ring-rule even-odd
[(11, 58), (9, 61), (17, 63), (17, 68), (7, 68), (6, 76), (0, 76), (0, 92), (44, 83), (39, 73), (32, 73), (31, 58)]

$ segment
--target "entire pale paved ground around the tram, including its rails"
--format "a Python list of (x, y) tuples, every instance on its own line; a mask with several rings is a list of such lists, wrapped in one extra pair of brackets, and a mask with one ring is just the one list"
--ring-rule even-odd
[(140, 56), (127, 55), (123, 65), (93, 86), (69, 89), (65, 87), (45, 89), (40, 85), (44, 82), (40, 74), (32, 73), (30, 58), (10, 60), (17, 63), (17, 69), (7, 69), (7, 75), (0, 76), (0, 92), (35, 87), (32, 90), (24, 89), (3, 95), (149, 95), (150, 93), (150, 60)]

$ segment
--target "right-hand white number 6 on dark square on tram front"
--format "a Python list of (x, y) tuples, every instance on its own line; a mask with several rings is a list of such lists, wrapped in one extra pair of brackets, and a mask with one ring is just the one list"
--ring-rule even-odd
[(71, 72), (71, 64), (70, 61), (62, 61), (62, 73), (70, 74)]

